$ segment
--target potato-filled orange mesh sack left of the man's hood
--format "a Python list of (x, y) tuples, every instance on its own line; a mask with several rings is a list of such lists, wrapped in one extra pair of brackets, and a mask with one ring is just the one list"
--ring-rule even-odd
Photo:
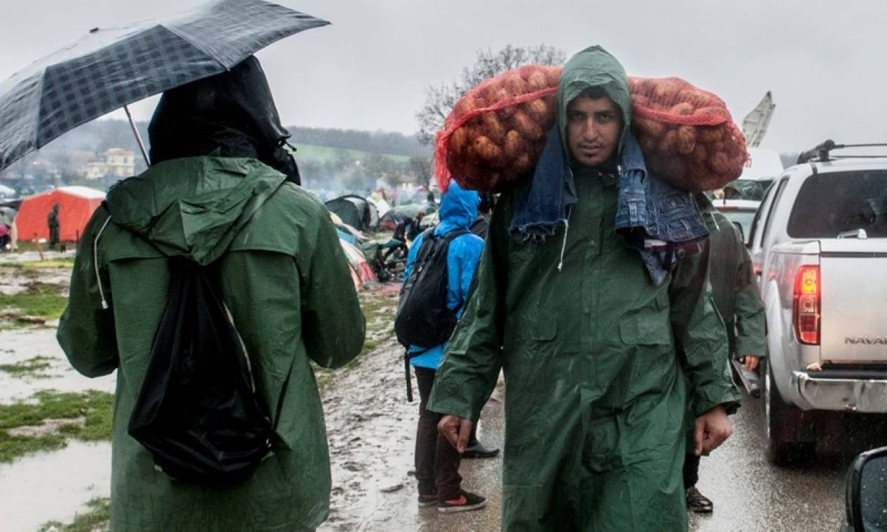
[(485, 80), (459, 99), (435, 141), (435, 176), (466, 190), (500, 192), (535, 167), (554, 123), (560, 66), (527, 65)]

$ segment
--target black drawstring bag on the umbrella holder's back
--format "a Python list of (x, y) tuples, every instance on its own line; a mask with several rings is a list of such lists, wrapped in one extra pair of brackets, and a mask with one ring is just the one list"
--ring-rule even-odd
[(274, 426), (209, 267), (169, 264), (166, 308), (129, 433), (177, 481), (230, 484), (271, 453)]

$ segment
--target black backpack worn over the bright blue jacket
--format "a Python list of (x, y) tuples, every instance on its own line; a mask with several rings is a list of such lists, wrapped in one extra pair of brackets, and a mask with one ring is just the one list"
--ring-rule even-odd
[(394, 331), (404, 347), (433, 348), (450, 339), (456, 328), (456, 309), (447, 309), (447, 251), (464, 229), (433, 238), (434, 229), (422, 233), (422, 246), (412, 263), (410, 277), (400, 288)]

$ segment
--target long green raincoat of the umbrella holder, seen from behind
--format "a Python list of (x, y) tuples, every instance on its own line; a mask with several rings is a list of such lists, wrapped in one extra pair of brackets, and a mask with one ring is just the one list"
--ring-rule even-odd
[[(306, 530), (326, 519), (329, 456), (309, 358), (346, 364), (365, 322), (326, 208), (283, 180), (252, 159), (169, 160), (115, 185), (83, 232), (59, 343), (84, 375), (118, 370), (114, 530)], [(273, 454), (231, 489), (170, 480), (127, 434), (174, 255), (218, 266), (257, 390), (279, 411)]]

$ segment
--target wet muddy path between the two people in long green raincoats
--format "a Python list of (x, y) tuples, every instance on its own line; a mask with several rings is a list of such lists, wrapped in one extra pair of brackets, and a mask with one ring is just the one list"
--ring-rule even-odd
[[(391, 315), (393, 319), (393, 313)], [(419, 395), (406, 402), (403, 348), (383, 341), (322, 391), (330, 442), (333, 497), (319, 530), (493, 531), (499, 529), (501, 458), (464, 460), (463, 486), (490, 497), (477, 512), (441, 514), (416, 504), (413, 446)], [(501, 447), (501, 403), (483, 412), (480, 438)]]

